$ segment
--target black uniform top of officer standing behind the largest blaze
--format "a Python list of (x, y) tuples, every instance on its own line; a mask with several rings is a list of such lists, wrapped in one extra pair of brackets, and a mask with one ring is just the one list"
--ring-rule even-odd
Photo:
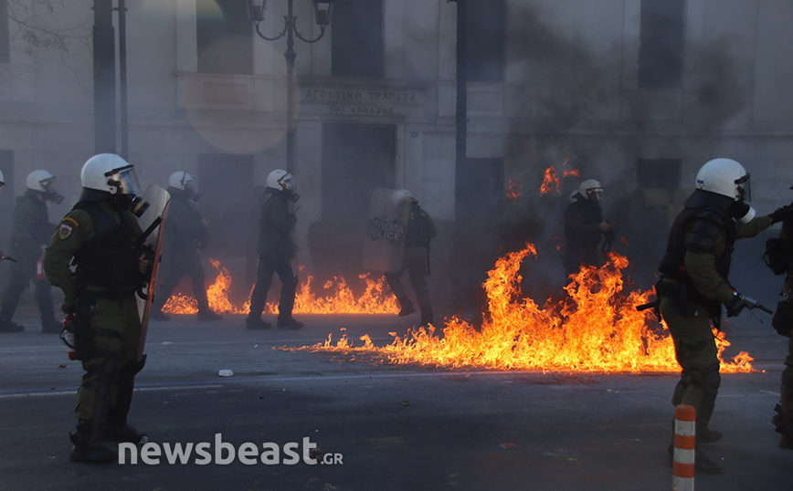
[(603, 233), (600, 224), (604, 222), (603, 209), (595, 200), (578, 195), (578, 199), (567, 207), (565, 212), (565, 274), (578, 272), (581, 265), (598, 266), (597, 246)]

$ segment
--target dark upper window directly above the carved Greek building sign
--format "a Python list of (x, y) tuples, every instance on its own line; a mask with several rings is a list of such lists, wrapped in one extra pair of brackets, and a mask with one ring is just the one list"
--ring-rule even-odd
[(383, 77), (383, 3), (338, 0), (333, 6), (333, 77)]

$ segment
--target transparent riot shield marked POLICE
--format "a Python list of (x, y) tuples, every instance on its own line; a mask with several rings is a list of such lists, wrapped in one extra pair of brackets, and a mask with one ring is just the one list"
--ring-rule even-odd
[(376, 188), (369, 207), (364, 267), (384, 273), (402, 269), (412, 197), (405, 190)]

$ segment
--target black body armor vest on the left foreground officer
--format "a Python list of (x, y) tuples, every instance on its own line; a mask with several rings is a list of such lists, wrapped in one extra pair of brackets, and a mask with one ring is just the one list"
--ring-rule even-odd
[(143, 285), (138, 270), (138, 230), (132, 216), (120, 212), (121, 223), (99, 204), (81, 202), (75, 209), (90, 214), (95, 235), (75, 256), (75, 283), (100, 298), (125, 298)]

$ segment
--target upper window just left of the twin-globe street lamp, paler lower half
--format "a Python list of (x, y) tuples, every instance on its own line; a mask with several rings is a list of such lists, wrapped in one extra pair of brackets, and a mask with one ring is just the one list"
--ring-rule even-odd
[(253, 26), (239, 0), (196, 0), (198, 71), (253, 73)]

